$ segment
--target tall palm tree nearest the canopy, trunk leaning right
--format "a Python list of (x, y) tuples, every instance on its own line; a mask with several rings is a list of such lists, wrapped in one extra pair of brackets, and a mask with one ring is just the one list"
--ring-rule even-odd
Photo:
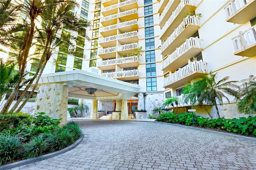
[[(38, 42), (40, 42), (40, 46), (42, 46), (43, 52), (40, 56), (37, 71), (34, 74), (34, 77), (31, 79), (31, 83), (34, 81), (34, 79), (37, 78), (35, 84), (38, 84), (38, 81), (42, 75), (46, 63), (54, 53), (56, 47), (62, 45), (63, 43), (74, 46), (74, 44), (71, 43), (70, 40), (76, 40), (76, 38), (74, 38), (73, 36), (66, 37), (60, 35), (60, 30), (69, 29), (78, 32), (85, 31), (86, 28), (90, 27), (90, 22), (80, 20), (79, 18), (74, 16), (73, 13), (70, 12), (70, 10), (72, 10), (74, 6), (77, 5), (78, 4), (73, 0), (66, 0), (65, 3), (60, 2), (60, 0), (52, 0), (51, 4), (49, 4), (48, 6), (46, 6), (46, 8), (42, 10), (42, 14), (40, 15), (42, 18), (42, 24), (41, 29), (38, 29), (39, 36), (37, 40)], [(73, 53), (73, 51), (64, 52)], [(22, 95), (25, 95), (27, 93), (28, 88), (29, 87), (25, 88)], [(20, 111), (22, 107), (24, 107), (35, 89), (36, 86), (33, 87), (32, 91), (30, 92), (26, 100), (22, 103), (22, 105), (18, 108), (17, 112)], [(21, 99), (15, 103), (14, 107), (12, 107), (9, 113), (12, 113), (16, 109), (16, 107), (18, 107), (20, 102)]]

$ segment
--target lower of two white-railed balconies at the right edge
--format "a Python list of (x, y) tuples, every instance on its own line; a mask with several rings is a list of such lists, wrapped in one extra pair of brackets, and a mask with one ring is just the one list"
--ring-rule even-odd
[(256, 55), (256, 25), (232, 38), (234, 55), (253, 57)]

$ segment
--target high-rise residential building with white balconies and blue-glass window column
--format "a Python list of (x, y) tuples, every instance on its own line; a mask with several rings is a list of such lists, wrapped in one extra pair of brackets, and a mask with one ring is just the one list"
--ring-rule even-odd
[[(170, 96), (178, 97), (180, 112), (187, 111), (185, 83), (210, 71), (218, 72), (218, 79), (256, 78), (256, 0), (76, 1), (80, 6), (74, 14), (92, 27), (78, 34), (62, 30), (77, 37), (76, 53), (66, 55), (62, 51), (68, 45), (58, 47), (44, 73), (97, 68), (105, 77), (138, 84), (138, 95), (128, 100), (128, 114), (135, 109), (151, 113)], [(27, 69), (35, 71), (33, 65)], [(220, 112), (228, 114), (231, 108), (237, 116), (236, 101), (229, 99)], [(102, 101), (100, 108), (113, 111), (115, 105)], [(208, 111), (215, 114), (213, 107)]]

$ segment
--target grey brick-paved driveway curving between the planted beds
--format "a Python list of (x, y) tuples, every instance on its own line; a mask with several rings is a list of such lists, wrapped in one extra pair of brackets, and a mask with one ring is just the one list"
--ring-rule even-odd
[(77, 120), (73, 150), (22, 170), (255, 170), (256, 142), (165, 123)]

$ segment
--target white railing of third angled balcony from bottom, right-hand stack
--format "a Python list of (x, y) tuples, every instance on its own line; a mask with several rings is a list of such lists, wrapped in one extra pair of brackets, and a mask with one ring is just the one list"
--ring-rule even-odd
[[(188, 24), (193, 24), (196, 26), (200, 26), (199, 17), (198, 16), (187, 16), (184, 18), (183, 22), (174, 29), (174, 32), (167, 38), (166, 42), (163, 43), (161, 47), (161, 52), (166, 49), (173, 42), (173, 40), (186, 28)], [(162, 31), (162, 30), (161, 30)]]

